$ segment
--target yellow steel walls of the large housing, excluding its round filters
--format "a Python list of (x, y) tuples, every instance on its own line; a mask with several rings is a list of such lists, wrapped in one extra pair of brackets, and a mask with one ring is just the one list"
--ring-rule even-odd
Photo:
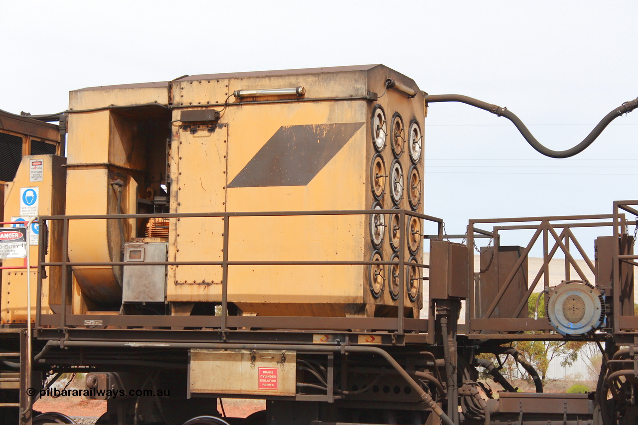
[[(124, 183), (121, 212), (135, 213), (135, 193), (140, 178), (135, 169), (142, 170), (143, 174), (149, 167), (145, 162), (148, 151), (138, 145), (140, 136), (122, 116), (135, 113), (131, 112), (135, 108), (128, 112), (80, 110), (151, 102), (172, 103), (173, 107), (172, 122), (167, 118), (165, 123), (156, 123), (171, 129), (167, 181), (170, 182), (172, 213), (370, 209), (375, 202), (370, 168), (377, 153), (373, 145), (373, 110), (380, 105), (385, 111), (389, 137), (380, 156), (389, 174), (395, 160), (390, 148), (392, 117), (396, 112), (401, 114), (404, 133), (408, 132), (410, 123), (416, 121), (422, 134), (425, 116), (422, 92), (413, 80), (382, 65), (283, 74), (273, 71), (272, 75), (189, 77), (170, 83), (72, 92), (71, 108), (77, 113), (71, 114), (69, 123), (67, 214), (117, 213), (117, 191), (111, 183), (118, 178)], [(386, 89), (387, 78), (412, 87), (416, 95), (408, 98)], [(247, 98), (242, 102), (248, 103), (242, 103), (232, 96), (233, 91), (240, 89), (297, 86), (306, 89), (302, 98)], [(370, 92), (378, 94), (378, 100), (371, 100)], [(262, 100), (273, 102), (250, 103)], [(230, 104), (225, 106), (226, 102)], [(191, 122), (181, 121), (182, 112), (210, 111), (213, 105), (221, 111), (219, 123), (193, 126)], [(209, 130), (211, 125), (214, 128)], [(308, 134), (316, 135), (319, 145), (334, 137), (345, 140), (336, 151), (326, 154), (329, 158), (322, 167), (316, 166), (316, 158), (304, 157), (299, 163), (299, 174), (304, 174), (304, 167), (312, 168), (315, 173), (308, 181), (278, 181), (290, 177), (286, 172), (277, 174), (281, 171), (279, 168), (284, 167), (281, 164), (290, 167), (290, 158), (298, 157), (295, 149), (300, 145), (295, 137), (301, 133), (295, 133), (297, 131), (306, 139)], [(273, 153), (270, 149), (283, 150)], [(420, 176), (423, 175), (422, 156), (415, 165)], [(408, 188), (406, 179), (412, 162), (407, 146), (397, 161), (403, 167), (401, 184)], [(413, 209), (406, 195), (398, 202), (390, 199), (388, 180), (380, 205), (384, 209)], [(422, 200), (414, 209), (423, 211)], [(386, 216), (387, 223), (388, 219)], [(133, 223), (124, 224), (124, 238), (135, 236)], [(231, 261), (356, 261), (369, 260), (374, 251), (369, 216), (233, 217), (229, 227)], [(406, 234), (405, 229), (401, 232)], [(168, 259), (221, 260), (222, 233), (221, 218), (173, 219)], [(384, 233), (379, 251), (383, 260), (390, 260), (393, 250), (387, 227)], [(71, 261), (119, 260), (120, 248), (115, 220), (78, 221), (70, 227)], [(406, 260), (410, 257), (407, 252), (406, 249)], [(422, 262), (422, 242), (415, 260)], [(384, 269), (385, 287), (375, 298), (369, 289), (367, 265), (233, 265), (229, 268), (228, 301), (246, 314), (396, 315), (398, 302), (389, 294), (389, 271), (388, 267)], [(106, 299), (111, 308), (117, 306), (121, 290), (117, 269), (75, 267), (73, 271), (80, 289), (89, 299)], [(219, 302), (221, 276), (220, 266), (170, 266), (167, 301)], [(414, 301), (406, 294), (402, 296), (407, 311), (417, 315), (420, 294)]]

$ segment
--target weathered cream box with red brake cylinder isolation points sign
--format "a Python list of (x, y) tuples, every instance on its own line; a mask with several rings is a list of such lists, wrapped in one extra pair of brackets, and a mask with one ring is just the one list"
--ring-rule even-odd
[(294, 396), (297, 353), (278, 350), (191, 349), (188, 391)]

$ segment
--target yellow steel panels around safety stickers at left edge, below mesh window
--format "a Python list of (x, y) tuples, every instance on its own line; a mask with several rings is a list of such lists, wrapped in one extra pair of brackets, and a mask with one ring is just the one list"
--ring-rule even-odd
[[(43, 181), (30, 181), (29, 160), (41, 159), (43, 162)], [(20, 167), (13, 182), (10, 182), (4, 193), (4, 221), (11, 217), (20, 217), (20, 188), (38, 188), (38, 214), (64, 214), (64, 183), (65, 172), (63, 164), (65, 158), (54, 155), (23, 156)], [(26, 217), (25, 217), (26, 218)], [(28, 220), (28, 218), (26, 218)], [(47, 261), (59, 261), (59, 251), (56, 251), (55, 241), (60, 239), (59, 226), (50, 226), (50, 250)], [(31, 265), (38, 265), (38, 245), (29, 245)], [(22, 267), (24, 258), (8, 258), (3, 260), (3, 266)], [(34, 321), (36, 314), (37, 270), (31, 269), (31, 308)], [(59, 269), (45, 268), (48, 278), (42, 281), (43, 313), (50, 313), (49, 304), (59, 304)], [(27, 321), (27, 269), (3, 269), (2, 271), (2, 301), (0, 311), (1, 324), (26, 323)], [(49, 291), (51, 284), (51, 293)], [(57, 298), (56, 298), (57, 297)]]

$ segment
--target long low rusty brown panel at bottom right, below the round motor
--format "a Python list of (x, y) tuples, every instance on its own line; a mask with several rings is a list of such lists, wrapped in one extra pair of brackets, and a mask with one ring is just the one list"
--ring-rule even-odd
[(550, 392), (500, 392), (500, 411), (504, 414), (524, 413), (590, 415), (593, 401), (589, 394)]

